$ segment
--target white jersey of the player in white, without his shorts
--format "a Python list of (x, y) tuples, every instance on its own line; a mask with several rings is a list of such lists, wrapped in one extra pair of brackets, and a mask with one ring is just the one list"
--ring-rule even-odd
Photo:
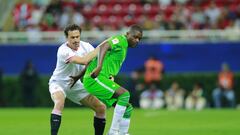
[(52, 81), (69, 83), (69, 76), (78, 75), (85, 65), (67, 63), (68, 59), (76, 55), (82, 57), (93, 50), (94, 47), (91, 44), (83, 41), (80, 41), (78, 50), (72, 50), (67, 46), (67, 42), (62, 44), (58, 48), (56, 68), (49, 83)]

